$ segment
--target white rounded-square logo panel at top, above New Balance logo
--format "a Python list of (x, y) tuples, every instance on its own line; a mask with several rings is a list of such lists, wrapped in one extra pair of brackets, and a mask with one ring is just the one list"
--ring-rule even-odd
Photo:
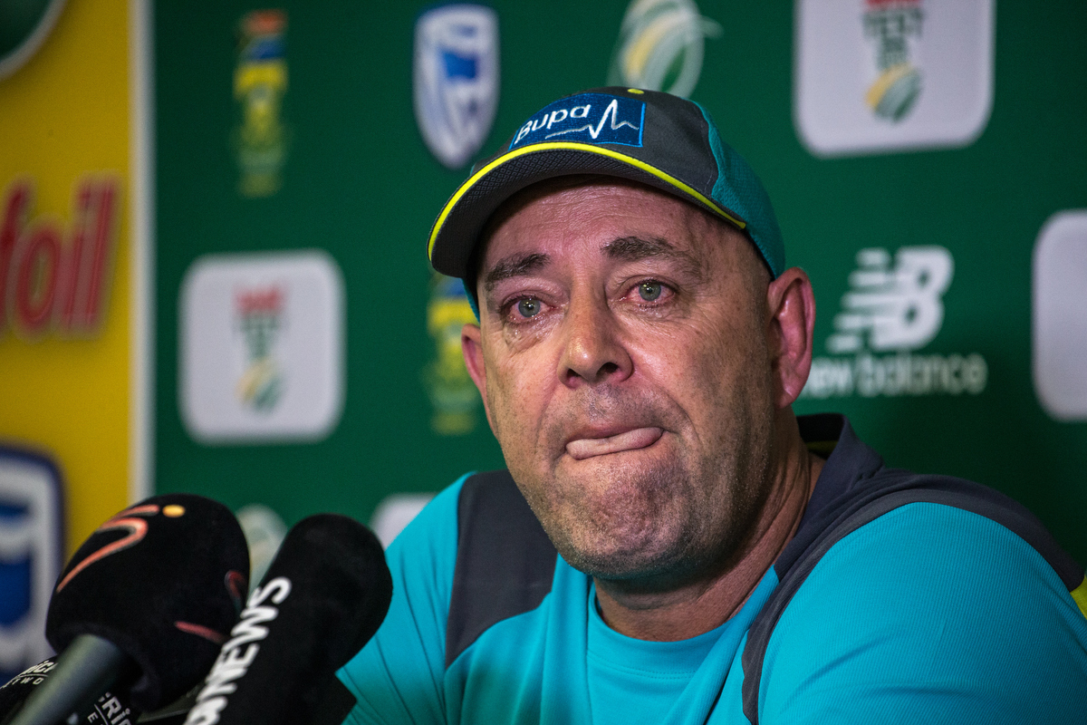
[(988, 124), (994, 0), (797, 0), (794, 25), (812, 153), (961, 147)]

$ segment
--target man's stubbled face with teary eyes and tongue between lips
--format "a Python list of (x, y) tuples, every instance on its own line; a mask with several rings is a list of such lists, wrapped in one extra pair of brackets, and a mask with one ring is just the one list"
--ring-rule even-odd
[(541, 185), (492, 222), (465, 358), (572, 565), (669, 587), (738, 553), (767, 486), (769, 279), (740, 233), (648, 187)]

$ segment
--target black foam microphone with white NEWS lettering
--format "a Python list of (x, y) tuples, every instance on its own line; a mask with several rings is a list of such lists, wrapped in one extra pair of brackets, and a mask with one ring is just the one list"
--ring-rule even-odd
[(338, 723), (336, 671), (385, 618), (392, 577), (377, 538), (337, 514), (303, 518), (249, 596), (186, 725)]

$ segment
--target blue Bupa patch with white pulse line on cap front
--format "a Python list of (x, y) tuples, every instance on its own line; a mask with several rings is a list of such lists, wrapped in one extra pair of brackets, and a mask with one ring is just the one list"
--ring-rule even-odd
[(517, 129), (510, 149), (544, 141), (641, 146), (646, 104), (633, 98), (579, 93), (551, 103)]

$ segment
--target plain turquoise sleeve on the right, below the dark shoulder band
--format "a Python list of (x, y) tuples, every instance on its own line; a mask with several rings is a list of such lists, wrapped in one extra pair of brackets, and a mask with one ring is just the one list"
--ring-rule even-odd
[(762, 714), (786, 721), (790, 693), (807, 691), (813, 711), (833, 709), (824, 698), (837, 692), (860, 711), (1060, 722), (1087, 691), (1087, 620), (1017, 534), (962, 508), (913, 502), (819, 560), (782, 612), (760, 674)]

